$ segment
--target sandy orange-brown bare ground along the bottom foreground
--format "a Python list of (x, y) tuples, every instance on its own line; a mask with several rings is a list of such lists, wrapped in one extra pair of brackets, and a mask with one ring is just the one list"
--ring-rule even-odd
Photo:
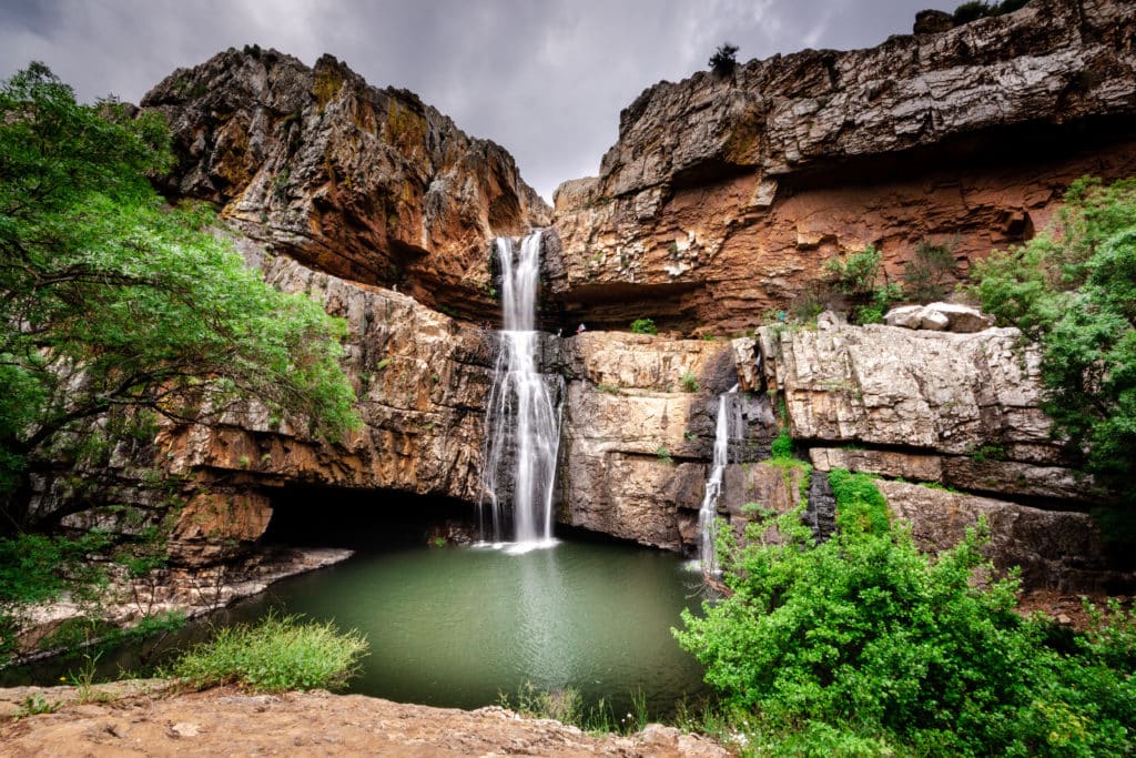
[[(720, 745), (649, 725), (590, 736), (498, 707), (474, 711), (327, 692), (176, 693), (157, 680), (0, 690), (0, 756), (729, 756)], [(53, 713), (23, 715), (26, 703)], [(85, 700), (85, 702), (81, 701)]]

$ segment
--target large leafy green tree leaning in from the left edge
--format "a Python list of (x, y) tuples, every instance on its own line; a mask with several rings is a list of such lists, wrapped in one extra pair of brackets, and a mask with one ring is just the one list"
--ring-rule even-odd
[[(153, 420), (256, 399), (335, 439), (358, 420), (339, 319), (282, 294), (170, 209), (159, 116), (75, 101), (42, 64), (0, 83), (0, 514), (25, 525), (30, 475), (98, 456)], [(58, 514), (55, 515), (58, 517)], [(0, 525), (3, 528), (3, 525)]]

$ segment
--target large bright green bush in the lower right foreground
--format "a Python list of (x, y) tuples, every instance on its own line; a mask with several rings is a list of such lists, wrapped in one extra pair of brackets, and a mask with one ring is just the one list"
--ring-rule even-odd
[[(1072, 642), (976, 585), (985, 524), (930, 558), (870, 480), (830, 476), (837, 532), (800, 510), (724, 550), (728, 597), (684, 613), (680, 644), (762, 755), (1127, 755), (1136, 617), (1111, 605)], [(776, 540), (766, 541), (768, 534)], [(760, 745), (760, 748), (757, 748)]]

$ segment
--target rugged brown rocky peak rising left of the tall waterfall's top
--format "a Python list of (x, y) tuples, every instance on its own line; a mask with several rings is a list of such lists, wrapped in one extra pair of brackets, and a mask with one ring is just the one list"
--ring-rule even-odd
[(549, 220), (502, 148), (331, 56), (308, 68), (229, 49), (174, 72), (142, 106), (173, 127), (167, 193), (220, 207), (273, 252), (435, 308), (494, 317), (492, 238)]

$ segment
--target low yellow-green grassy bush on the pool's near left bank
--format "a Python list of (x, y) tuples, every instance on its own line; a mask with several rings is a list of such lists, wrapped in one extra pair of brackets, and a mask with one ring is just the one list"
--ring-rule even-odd
[(241, 684), (264, 692), (335, 689), (358, 672), (367, 641), (331, 622), (269, 614), (256, 626), (220, 628), (175, 661), (169, 674), (194, 686)]

